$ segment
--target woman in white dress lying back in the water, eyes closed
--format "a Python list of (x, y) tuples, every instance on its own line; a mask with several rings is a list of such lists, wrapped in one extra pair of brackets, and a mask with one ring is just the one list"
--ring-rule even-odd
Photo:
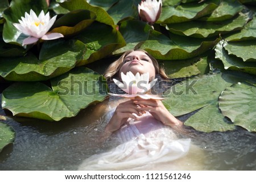
[[(158, 62), (146, 51), (127, 51), (106, 69), (105, 77), (112, 92), (113, 78), (121, 73), (149, 73), (150, 80), (167, 79)], [(118, 91), (119, 92), (119, 91)], [(116, 93), (116, 92), (115, 92)], [(118, 138), (121, 144), (109, 152), (86, 159), (80, 170), (122, 169), (188, 169), (180, 161), (191, 147), (190, 139), (177, 139), (183, 122), (175, 118), (160, 100), (139, 97), (121, 99), (109, 113), (106, 134)]]

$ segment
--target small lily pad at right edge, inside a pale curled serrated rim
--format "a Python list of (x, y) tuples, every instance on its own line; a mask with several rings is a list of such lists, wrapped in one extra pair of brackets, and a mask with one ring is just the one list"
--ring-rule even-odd
[[(225, 42), (224, 48), (229, 55), (241, 57), (243, 61), (256, 61), (256, 42), (255, 40), (246, 40), (240, 42)], [(256, 63), (255, 63), (256, 67)]]

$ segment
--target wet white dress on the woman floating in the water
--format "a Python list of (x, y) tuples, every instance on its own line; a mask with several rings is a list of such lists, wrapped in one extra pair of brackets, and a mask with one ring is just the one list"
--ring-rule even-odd
[(128, 125), (114, 133), (121, 142), (119, 146), (90, 156), (79, 170), (179, 169), (172, 162), (187, 155), (191, 139), (177, 139), (171, 127), (148, 112), (138, 118), (130, 119)]

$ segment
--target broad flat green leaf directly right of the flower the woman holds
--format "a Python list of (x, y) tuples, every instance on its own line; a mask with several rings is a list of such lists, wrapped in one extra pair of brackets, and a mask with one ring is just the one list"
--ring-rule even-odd
[(217, 102), (222, 90), (230, 85), (232, 83), (226, 82), (220, 73), (196, 76), (172, 86), (164, 93), (164, 102), (170, 106), (172, 114), (188, 114)]

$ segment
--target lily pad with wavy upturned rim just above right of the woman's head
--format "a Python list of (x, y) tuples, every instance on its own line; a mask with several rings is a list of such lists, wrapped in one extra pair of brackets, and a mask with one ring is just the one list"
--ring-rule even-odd
[(183, 60), (196, 57), (213, 48), (220, 39), (185, 38), (170, 34), (170, 38), (158, 31), (150, 31), (148, 40), (142, 45), (148, 53), (160, 60)]

